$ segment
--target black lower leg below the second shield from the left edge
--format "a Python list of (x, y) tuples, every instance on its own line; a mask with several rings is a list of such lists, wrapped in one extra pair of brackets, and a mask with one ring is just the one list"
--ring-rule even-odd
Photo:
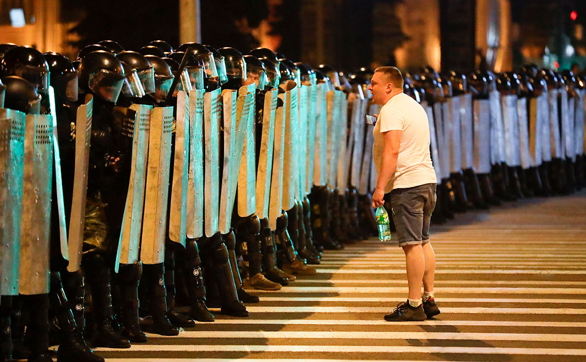
[(49, 295), (22, 295), (23, 308), (29, 315), (25, 342), (29, 347), (29, 362), (52, 362), (49, 353)]

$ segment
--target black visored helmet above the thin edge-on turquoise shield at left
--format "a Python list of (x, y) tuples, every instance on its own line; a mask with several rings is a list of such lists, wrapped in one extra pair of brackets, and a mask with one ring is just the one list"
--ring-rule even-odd
[(51, 85), (56, 89), (57, 95), (61, 99), (76, 102), (78, 73), (69, 58), (54, 51), (43, 56), (49, 64)]

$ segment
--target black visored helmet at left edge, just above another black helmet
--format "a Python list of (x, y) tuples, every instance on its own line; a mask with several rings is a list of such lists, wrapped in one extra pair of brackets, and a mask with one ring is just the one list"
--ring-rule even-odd
[(38, 92), (49, 91), (49, 64), (40, 51), (29, 47), (13, 47), (0, 63), (0, 75), (25, 78)]

